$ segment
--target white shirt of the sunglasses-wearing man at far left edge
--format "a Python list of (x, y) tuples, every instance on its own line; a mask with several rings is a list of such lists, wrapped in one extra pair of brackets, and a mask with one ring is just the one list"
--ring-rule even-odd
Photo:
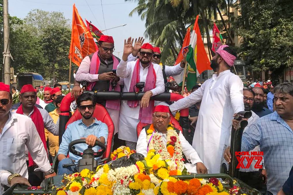
[(39, 166), (35, 169), (36, 171), (46, 172), (51, 169), (43, 142), (33, 121), (10, 111), (9, 118), (0, 134), (0, 194), (3, 185), (8, 185), (7, 179), (11, 173), (18, 173), (28, 178), (25, 146)]

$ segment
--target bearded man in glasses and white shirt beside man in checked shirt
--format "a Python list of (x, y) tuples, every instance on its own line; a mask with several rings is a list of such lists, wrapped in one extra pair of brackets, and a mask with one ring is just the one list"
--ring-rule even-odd
[[(243, 89), (243, 102), (244, 102), (244, 110), (245, 111), (251, 111), (252, 115), (250, 118), (248, 118), (248, 125), (245, 127), (245, 132), (250, 125), (252, 125), (255, 121), (259, 119), (259, 116), (255, 114), (251, 109), (253, 107), (254, 102), (254, 92), (252, 89)], [(236, 120), (233, 120), (233, 125), (237, 126)], [(230, 153), (230, 143), (231, 143), (231, 137), (229, 140), (227, 140), (227, 149), (224, 152), (224, 158), (229, 164), (231, 162), (231, 153)], [(259, 146), (256, 146), (253, 150), (249, 151), (251, 152), (260, 152)], [(243, 165), (247, 165), (247, 160), (243, 160)], [(253, 187), (257, 190), (259, 190), (262, 194), (265, 194), (266, 192), (266, 186), (265, 182), (267, 180), (267, 173), (266, 170), (263, 169), (256, 169), (254, 168), (254, 165), (257, 163), (257, 160), (253, 160), (251, 163), (251, 166), (247, 169), (240, 168), (239, 169), (239, 179), (243, 181), (244, 183), (248, 184), (250, 187)], [(263, 163), (263, 161), (262, 161)]]

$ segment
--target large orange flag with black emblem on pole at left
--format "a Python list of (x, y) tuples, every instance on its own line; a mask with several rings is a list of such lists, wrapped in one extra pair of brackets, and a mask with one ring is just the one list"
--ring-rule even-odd
[(93, 40), (93, 36), (78, 14), (74, 4), (72, 14), (71, 43), (68, 58), (71, 58), (72, 62), (79, 66), (84, 57), (94, 53), (95, 51), (97, 51), (97, 45)]

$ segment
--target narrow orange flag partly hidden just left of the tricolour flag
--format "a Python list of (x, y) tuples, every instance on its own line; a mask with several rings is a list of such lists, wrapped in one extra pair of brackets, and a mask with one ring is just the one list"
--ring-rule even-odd
[[(186, 53), (186, 49), (188, 48), (189, 43), (190, 43), (190, 28), (187, 29), (187, 32), (185, 34), (184, 41), (183, 41), (181, 50), (178, 54), (178, 57), (176, 59), (175, 65), (179, 64), (183, 60), (183, 56)], [(182, 86), (183, 74), (184, 74), (184, 71), (182, 71), (180, 75), (173, 76), (174, 80), (179, 86)]]

